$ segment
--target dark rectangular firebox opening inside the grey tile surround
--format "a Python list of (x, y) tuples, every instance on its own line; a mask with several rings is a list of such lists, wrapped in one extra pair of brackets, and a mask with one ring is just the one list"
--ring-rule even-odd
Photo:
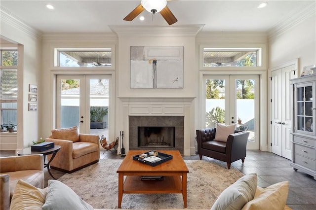
[(175, 127), (137, 127), (138, 147), (175, 147)]

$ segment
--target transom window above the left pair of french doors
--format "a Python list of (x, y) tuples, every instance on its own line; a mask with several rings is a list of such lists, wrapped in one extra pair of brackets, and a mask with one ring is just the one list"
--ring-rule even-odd
[(55, 49), (55, 67), (112, 67), (112, 48)]

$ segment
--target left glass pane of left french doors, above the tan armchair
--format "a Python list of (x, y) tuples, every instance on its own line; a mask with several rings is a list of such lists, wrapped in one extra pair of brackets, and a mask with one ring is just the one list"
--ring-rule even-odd
[(80, 80), (61, 79), (61, 128), (79, 127)]

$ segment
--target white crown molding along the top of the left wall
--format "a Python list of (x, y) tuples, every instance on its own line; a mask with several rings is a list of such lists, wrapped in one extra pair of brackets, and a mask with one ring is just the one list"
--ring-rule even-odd
[(5, 7), (1, 5), (0, 19), (1, 22), (4, 22), (27, 35), (37, 37), (40, 39), (42, 38), (42, 33), (40, 31), (20, 21), (18, 17), (16, 17), (14, 14), (12, 14), (9, 10), (7, 10)]

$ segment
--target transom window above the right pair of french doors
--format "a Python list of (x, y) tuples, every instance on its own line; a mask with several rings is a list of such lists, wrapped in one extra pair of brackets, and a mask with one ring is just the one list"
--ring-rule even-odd
[(203, 67), (261, 67), (261, 49), (204, 47)]

